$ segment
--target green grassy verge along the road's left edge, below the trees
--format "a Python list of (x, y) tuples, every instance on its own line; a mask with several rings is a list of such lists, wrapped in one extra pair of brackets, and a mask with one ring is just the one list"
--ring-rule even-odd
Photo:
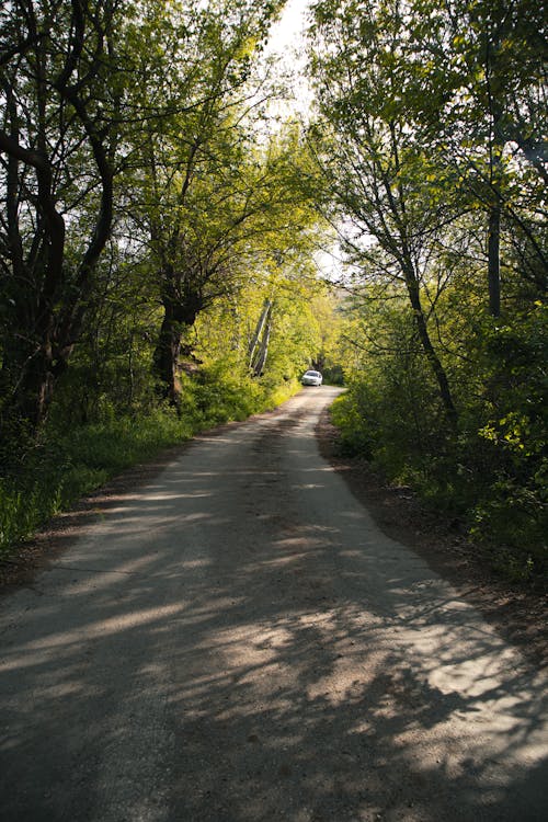
[(186, 391), (181, 414), (156, 409), (66, 433), (46, 431), (43, 442), (0, 477), (0, 558), (124, 469), (201, 431), (274, 408), (298, 387), (295, 381), (274, 388), (222, 386), (213, 375)]

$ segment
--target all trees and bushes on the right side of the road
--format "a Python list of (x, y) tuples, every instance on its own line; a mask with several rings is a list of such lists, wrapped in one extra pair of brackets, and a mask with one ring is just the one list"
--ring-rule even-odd
[[(349, 266), (343, 448), (548, 574), (546, 42), (521, 0), (318, 0), (310, 144)], [(543, 136), (544, 135), (544, 136)]]

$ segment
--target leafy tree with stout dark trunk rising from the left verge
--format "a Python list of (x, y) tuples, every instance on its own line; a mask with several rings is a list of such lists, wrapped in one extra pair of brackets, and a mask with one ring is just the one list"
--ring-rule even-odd
[(155, 55), (141, 72), (140, 94), (156, 99), (152, 71), (160, 87), (167, 84), (169, 102), (165, 116), (148, 123), (138, 144), (129, 212), (149, 237), (162, 305), (155, 373), (162, 396), (175, 406), (179, 359), (191, 354), (181, 349), (185, 330), (230, 287), (244, 227), (265, 207), (263, 170), (247, 159), (250, 137), (242, 118), (253, 55), (278, 7), (219, 0), (176, 9), (168, 19), (160, 11), (161, 25), (152, 21), (152, 36), (162, 32), (162, 54), (182, 49), (184, 69), (165, 83)]

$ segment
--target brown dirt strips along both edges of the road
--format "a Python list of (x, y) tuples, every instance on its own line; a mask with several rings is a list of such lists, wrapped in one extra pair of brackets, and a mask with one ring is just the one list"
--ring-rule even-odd
[[(216, 430), (221, 434), (229, 426)], [(535, 663), (548, 662), (548, 595), (535, 586), (501, 578), (477, 545), (453, 530), (453, 523), (421, 506), (408, 488), (395, 488), (358, 458), (343, 457), (338, 430), (324, 411), (316, 434), (320, 453), (343, 477), (353, 494), (368, 509), (376, 524), (392, 539), (408, 545), (449, 581), (459, 594), (491, 623), (506, 640), (518, 646)], [(209, 432), (210, 435), (210, 432)], [(36, 537), (0, 560), (0, 594), (33, 585), (84, 529), (116, 506), (130, 490), (152, 480), (185, 446), (165, 449), (155, 460), (135, 466), (56, 516)]]

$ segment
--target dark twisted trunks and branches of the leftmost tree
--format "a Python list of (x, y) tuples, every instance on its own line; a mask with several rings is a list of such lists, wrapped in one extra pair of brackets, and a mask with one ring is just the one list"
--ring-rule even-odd
[[(71, 3), (67, 8), (70, 36), (66, 54), (55, 50), (57, 46), (46, 35), (44, 21), (38, 24), (32, 3), (22, 3), (21, 9), (14, 7), (12, 10), (13, 15), (23, 14), (30, 30), (27, 44), (33, 49), (27, 55), (26, 48), (21, 50), (19, 44), (13, 56), (20, 54), (21, 60), (26, 60), (34, 84), (24, 89), (28, 94), (28, 111), (26, 123), (20, 125), (22, 115), (13, 102), (18, 72), (7, 73), (8, 79), (3, 82), (8, 117), (4, 119), (7, 130), (0, 129), (0, 151), (8, 157), (4, 168), (9, 262), (4, 271), (9, 272), (7, 289), (11, 326), (1, 351), (2, 413), (4, 419), (21, 418), (33, 429), (39, 427), (44, 421), (56, 379), (66, 369), (73, 345), (81, 335), (93, 293), (96, 263), (111, 233), (116, 126), (113, 125), (114, 117), (105, 125), (101, 115), (92, 113), (94, 110), (89, 100), (99, 69), (110, 57), (105, 52), (104, 35), (114, 9), (113, 3), (104, 3), (102, 14), (98, 12), (92, 18), (85, 3)], [(88, 33), (96, 35), (96, 43), (95, 48), (90, 45), (84, 54)], [(55, 76), (47, 68), (52, 55), (58, 58), (55, 65), (59, 70)], [(84, 80), (73, 82), (77, 76)], [(34, 96), (28, 89), (34, 90)], [(95, 94), (102, 91), (103, 87), (93, 87)], [(67, 111), (73, 113), (75, 119), (72, 114), (67, 116)], [(100, 206), (92, 213), (88, 242), (80, 260), (67, 264), (65, 213), (70, 213), (70, 209), (64, 201), (64, 186), (71, 179), (71, 157), (68, 150), (56, 156), (50, 147), (65, 142), (68, 146), (71, 139), (76, 141), (77, 124), (80, 128), (77, 135), (79, 145), (89, 151), (89, 174), (96, 175)], [(22, 139), (28, 147), (22, 145)], [(20, 167), (24, 167), (23, 170)], [(27, 189), (26, 179), (31, 172), (36, 183)], [(31, 196), (28, 191), (33, 189)], [(92, 196), (91, 208), (95, 208), (95, 192)], [(81, 204), (76, 210), (78, 215), (82, 213)], [(34, 237), (23, 248), (22, 235), (28, 225), (34, 226)]]

